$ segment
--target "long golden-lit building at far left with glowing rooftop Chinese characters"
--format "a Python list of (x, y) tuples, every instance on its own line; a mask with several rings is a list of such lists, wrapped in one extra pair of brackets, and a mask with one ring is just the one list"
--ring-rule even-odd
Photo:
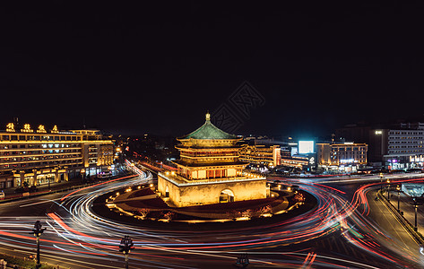
[(33, 130), (9, 123), (0, 131), (0, 189), (95, 175), (112, 163), (113, 143), (96, 130)]

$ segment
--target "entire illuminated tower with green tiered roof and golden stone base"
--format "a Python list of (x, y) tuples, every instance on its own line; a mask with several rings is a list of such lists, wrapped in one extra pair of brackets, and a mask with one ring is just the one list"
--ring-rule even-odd
[(218, 204), (267, 196), (266, 179), (245, 174), (239, 161), (241, 140), (213, 126), (209, 113), (203, 126), (177, 138), (177, 172), (158, 174), (158, 189), (175, 206)]

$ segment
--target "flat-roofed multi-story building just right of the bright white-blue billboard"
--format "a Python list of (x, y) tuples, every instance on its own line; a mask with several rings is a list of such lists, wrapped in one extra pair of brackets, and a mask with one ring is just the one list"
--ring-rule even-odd
[(316, 143), (318, 165), (324, 169), (350, 168), (367, 164), (366, 143)]

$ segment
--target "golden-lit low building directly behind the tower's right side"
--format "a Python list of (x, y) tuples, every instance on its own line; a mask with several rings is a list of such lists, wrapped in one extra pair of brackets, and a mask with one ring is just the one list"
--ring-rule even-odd
[(246, 161), (250, 164), (264, 165), (266, 167), (276, 167), (281, 164), (280, 145), (244, 144), (241, 146), (239, 153), (240, 161)]

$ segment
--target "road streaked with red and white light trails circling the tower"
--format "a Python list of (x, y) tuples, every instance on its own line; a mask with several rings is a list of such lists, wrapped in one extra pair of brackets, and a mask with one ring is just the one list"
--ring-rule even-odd
[[(119, 178), (118, 178), (119, 179)], [(119, 268), (120, 239), (134, 240), (130, 268), (230, 267), (247, 253), (249, 268), (422, 268), (418, 251), (408, 249), (368, 219), (368, 187), (348, 195), (310, 182), (296, 185), (314, 195), (315, 209), (286, 221), (221, 230), (163, 230), (124, 224), (91, 210), (100, 195), (139, 186), (150, 172), (105, 182), (67, 194), (52, 194), (0, 205), (0, 251), (14, 256), (35, 252), (29, 234), (41, 221), (41, 260), (71, 268)], [(351, 198), (350, 198), (351, 197)]]

